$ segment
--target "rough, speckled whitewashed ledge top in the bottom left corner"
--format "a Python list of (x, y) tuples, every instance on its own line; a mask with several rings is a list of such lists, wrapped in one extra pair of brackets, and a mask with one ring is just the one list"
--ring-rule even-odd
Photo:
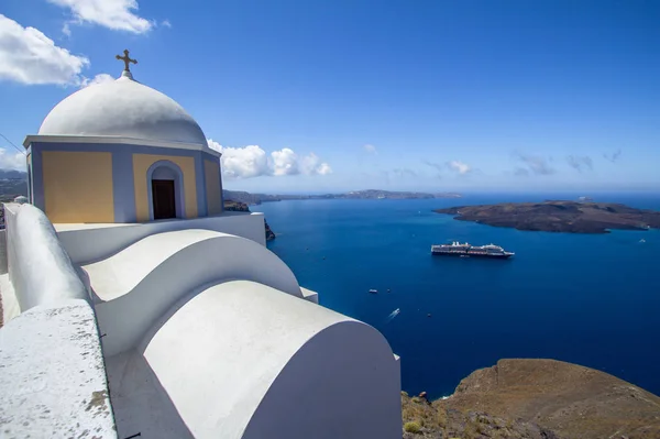
[(117, 438), (86, 300), (33, 307), (0, 330), (0, 437)]

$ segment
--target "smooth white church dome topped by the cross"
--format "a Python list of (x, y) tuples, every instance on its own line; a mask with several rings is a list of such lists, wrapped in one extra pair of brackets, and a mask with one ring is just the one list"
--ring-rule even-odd
[(59, 102), (40, 135), (88, 135), (194, 143), (207, 146), (201, 128), (174, 99), (133, 80), (130, 73), (86, 87)]

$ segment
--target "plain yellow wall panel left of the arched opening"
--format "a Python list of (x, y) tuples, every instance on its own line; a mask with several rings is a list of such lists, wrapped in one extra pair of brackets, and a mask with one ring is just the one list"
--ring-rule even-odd
[(111, 153), (44, 151), (42, 167), (51, 222), (114, 222)]

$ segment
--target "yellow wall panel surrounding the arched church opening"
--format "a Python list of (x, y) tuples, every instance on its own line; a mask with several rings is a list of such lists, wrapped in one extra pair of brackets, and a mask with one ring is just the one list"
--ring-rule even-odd
[(133, 180), (135, 182), (135, 213), (138, 221), (148, 221), (148, 191), (146, 172), (156, 162), (167, 160), (176, 164), (184, 174), (184, 198), (186, 218), (197, 218), (197, 185), (195, 183), (195, 158), (174, 155), (133, 154)]

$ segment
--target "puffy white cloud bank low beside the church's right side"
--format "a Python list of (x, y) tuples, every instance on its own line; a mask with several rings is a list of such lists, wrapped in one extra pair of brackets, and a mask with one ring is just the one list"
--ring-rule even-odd
[(328, 175), (332, 168), (321, 162), (318, 155), (310, 153), (299, 156), (289, 147), (266, 154), (257, 145), (245, 147), (222, 146), (212, 139), (208, 140), (211, 150), (222, 153), (222, 176), (228, 179), (252, 178), (262, 175), (280, 177), (285, 175)]

